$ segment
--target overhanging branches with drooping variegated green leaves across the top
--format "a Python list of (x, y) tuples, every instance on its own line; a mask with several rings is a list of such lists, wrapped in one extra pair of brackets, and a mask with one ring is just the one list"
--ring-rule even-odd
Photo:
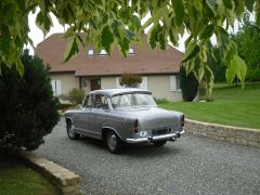
[[(256, 12), (257, 25), (260, 26), (259, 0), (2, 0), (0, 2), (0, 62), (8, 66), (16, 65), (23, 75), (23, 65), (17, 56), (25, 43), (31, 42), (28, 37), (28, 14), (39, 12), (37, 25), (47, 34), (52, 26), (50, 14), (53, 13), (62, 25), (68, 25), (65, 38), (68, 46), (64, 61), (78, 53), (78, 44), (87, 47), (93, 43), (98, 50), (104, 48), (108, 53), (118, 46), (125, 56), (132, 41), (141, 41), (146, 27), (148, 42), (153, 49), (167, 49), (168, 41), (178, 44), (180, 35), (190, 32), (185, 46), (183, 66), (187, 73), (194, 72), (197, 79), (213, 77), (206, 63), (210, 37), (216, 35), (218, 48), (225, 62), (226, 79), (232, 82), (235, 76), (245, 80), (246, 64), (237, 55), (234, 41), (226, 32), (234, 20), (242, 18), (245, 10)], [(141, 21), (151, 14), (145, 23)], [(224, 25), (225, 24), (225, 25)], [(78, 32), (83, 31), (82, 39)], [(195, 68), (195, 61), (200, 61)], [(212, 87), (212, 79), (208, 83)]]

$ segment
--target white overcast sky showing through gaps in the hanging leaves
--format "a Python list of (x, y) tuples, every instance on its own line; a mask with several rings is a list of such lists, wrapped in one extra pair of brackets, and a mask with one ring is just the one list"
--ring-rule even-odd
[[(44, 37), (43, 34), (41, 32), (41, 30), (35, 24), (36, 15), (37, 15), (37, 12), (35, 14), (32, 14), (32, 13), (29, 14), (29, 28), (30, 28), (29, 37), (32, 40), (35, 48), (37, 47), (38, 43), (43, 41), (46, 38), (48, 38), (52, 34), (57, 34), (57, 32), (64, 32), (65, 31), (64, 27), (58, 23), (57, 18), (53, 14), (51, 14), (52, 22), (53, 22), (53, 27), (51, 27), (50, 31)], [(147, 18), (148, 17), (150, 16), (147, 15)], [(238, 30), (238, 22), (235, 22), (234, 29), (230, 28), (229, 31), (230, 32), (232, 32), (232, 31), (236, 32), (237, 30)], [(180, 39), (179, 47), (177, 47), (177, 49), (179, 51), (182, 51), (182, 52), (185, 51), (184, 41), (187, 37), (188, 37), (188, 34), (185, 32), (183, 35), (183, 37)], [(211, 41), (213, 43), (217, 42), (216, 37), (212, 37)], [(30, 54), (34, 54), (34, 49), (30, 46), (27, 46), (27, 48), (29, 49)]]

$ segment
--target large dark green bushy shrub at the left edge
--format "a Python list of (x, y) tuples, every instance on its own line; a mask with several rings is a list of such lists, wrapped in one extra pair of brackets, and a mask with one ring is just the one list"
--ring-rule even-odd
[(35, 150), (58, 121), (58, 100), (42, 61), (25, 51), (21, 57), (25, 74), (1, 64), (0, 148)]

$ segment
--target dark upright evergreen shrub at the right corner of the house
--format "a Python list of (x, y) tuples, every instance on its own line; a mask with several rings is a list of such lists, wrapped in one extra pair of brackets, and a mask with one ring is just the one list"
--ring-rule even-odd
[(192, 102), (198, 91), (198, 81), (194, 73), (186, 75), (186, 70), (183, 66), (181, 66), (180, 69), (180, 87), (183, 101)]

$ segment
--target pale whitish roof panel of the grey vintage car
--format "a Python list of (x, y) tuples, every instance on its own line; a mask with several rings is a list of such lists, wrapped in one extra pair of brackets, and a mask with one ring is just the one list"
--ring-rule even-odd
[(143, 93), (150, 93), (151, 94), (150, 91), (143, 90), (143, 89), (138, 89), (138, 88), (103, 89), (103, 90), (91, 91), (90, 94), (104, 93), (108, 96), (113, 96), (115, 94), (134, 93), (134, 92), (143, 92)]

